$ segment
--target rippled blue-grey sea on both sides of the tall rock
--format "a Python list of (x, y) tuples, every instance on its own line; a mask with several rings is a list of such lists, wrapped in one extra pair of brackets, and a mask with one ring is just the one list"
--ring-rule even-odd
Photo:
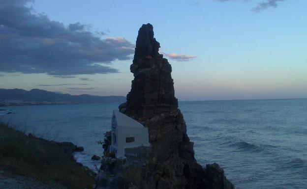
[[(26, 133), (84, 146), (94, 168), (118, 104), (5, 107), (2, 121)], [(236, 189), (307, 189), (307, 99), (179, 102), (195, 158), (217, 162)]]

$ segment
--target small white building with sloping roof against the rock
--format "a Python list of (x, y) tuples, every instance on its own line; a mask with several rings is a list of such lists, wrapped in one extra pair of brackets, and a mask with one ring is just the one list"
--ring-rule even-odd
[(113, 110), (111, 135), (110, 151), (115, 152), (116, 157), (124, 157), (126, 148), (150, 146), (148, 129), (117, 109)]

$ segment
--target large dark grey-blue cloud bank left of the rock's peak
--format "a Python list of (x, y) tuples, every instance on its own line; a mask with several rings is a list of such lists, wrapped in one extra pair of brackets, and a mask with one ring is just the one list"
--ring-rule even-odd
[(46, 73), (59, 78), (118, 73), (134, 45), (122, 37), (101, 39), (87, 25), (52, 21), (35, 13), (30, 0), (0, 0), (0, 71)]

